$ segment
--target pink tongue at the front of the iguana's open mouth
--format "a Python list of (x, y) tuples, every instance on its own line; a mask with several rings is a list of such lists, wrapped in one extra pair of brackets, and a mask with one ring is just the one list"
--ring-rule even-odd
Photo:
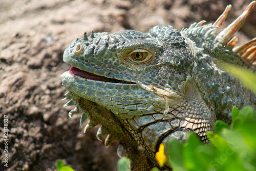
[(95, 74), (90, 73), (90, 72), (82, 71), (82, 70), (80, 70), (76, 67), (70, 68), (69, 73), (77, 75), (77, 76), (82, 77), (84, 79), (97, 80), (97, 81), (106, 81), (106, 79), (104, 77), (101, 77), (99, 75), (95, 75)]

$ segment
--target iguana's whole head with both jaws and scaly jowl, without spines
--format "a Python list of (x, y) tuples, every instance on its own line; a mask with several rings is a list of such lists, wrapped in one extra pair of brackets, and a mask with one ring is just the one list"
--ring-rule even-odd
[(206, 140), (211, 119), (201, 110), (198, 90), (190, 83), (195, 47), (172, 26), (156, 26), (146, 34), (85, 33), (65, 50), (63, 61), (73, 66), (62, 74), (72, 96), (110, 110), (152, 156), (161, 143), (184, 141), (188, 132)]

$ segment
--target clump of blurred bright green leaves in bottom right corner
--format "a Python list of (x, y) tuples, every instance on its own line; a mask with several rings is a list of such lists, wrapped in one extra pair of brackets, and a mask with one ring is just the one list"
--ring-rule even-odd
[(232, 110), (232, 125), (215, 123), (207, 132), (212, 145), (191, 135), (186, 143), (172, 141), (167, 149), (173, 170), (256, 170), (256, 114), (247, 106)]

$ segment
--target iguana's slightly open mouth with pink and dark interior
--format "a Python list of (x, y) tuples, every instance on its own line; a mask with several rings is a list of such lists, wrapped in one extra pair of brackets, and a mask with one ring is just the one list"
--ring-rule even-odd
[(81, 78), (84, 79), (90, 79), (90, 80), (95, 80), (95, 81), (103, 81), (103, 82), (111, 82), (111, 83), (122, 83), (122, 84), (136, 84), (128, 81), (123, 81), (123, 80), (116, 80), (116, 79), (110, 79), (106, 77), (102, 77), (100, 75), (96, 75), (87, 71), (82, 71), (76, 67), (72, 67), (69, 70), (69, 73), (77, 75)]

